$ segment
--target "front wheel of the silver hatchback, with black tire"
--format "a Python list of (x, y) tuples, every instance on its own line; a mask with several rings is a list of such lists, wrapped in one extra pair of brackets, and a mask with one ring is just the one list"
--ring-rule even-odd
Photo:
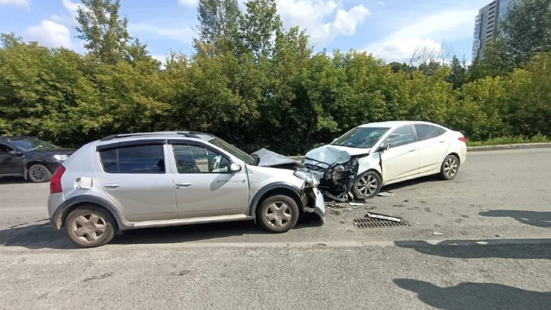
[(268, 232), (288, 232), (289, 229), (295, 227), (296, 221), (299, 220), (299, 207), (296, 205), (296, 201), (289, 196), (271, 196), (262, 201), (257, 210), (257, 218), (260, 225)]

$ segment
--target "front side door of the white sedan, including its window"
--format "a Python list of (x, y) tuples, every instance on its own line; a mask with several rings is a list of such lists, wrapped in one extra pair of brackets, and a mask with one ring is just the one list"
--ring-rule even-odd
[(387, 151), (381, 152), (382, 176), (385, 183), (418, 173), (419, 149), (415, 146), (415, 137), (410, 125), (392, 131), (382, 145), (390, 145)]

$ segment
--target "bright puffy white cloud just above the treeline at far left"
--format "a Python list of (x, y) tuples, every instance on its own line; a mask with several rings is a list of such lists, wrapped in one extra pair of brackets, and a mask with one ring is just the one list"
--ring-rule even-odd
[(69, 29), (51, 20), (42, 20), (40, 24), (30, 26), (25, 30), (25, 36), (30, 41), (37, 41), (47, 47), (71, 47)]

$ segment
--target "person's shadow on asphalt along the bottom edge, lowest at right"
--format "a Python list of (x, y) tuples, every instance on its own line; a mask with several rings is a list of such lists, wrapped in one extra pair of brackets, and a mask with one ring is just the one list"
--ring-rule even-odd
[(401, 288), (417, 293), (420, 301), (446, 310), (549, 309), (551, 292), (534, 292), (495, 283), (464, 282), (440, 287), (414, 279), (395, 279)]

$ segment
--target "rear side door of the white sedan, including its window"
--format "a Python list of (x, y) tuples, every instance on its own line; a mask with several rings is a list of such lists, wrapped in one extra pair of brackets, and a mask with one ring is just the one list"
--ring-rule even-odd
[(450, 141), (436, 126), (415, 124), (414, 129), (419, 146), (419, 172), (439, 168), (450, 147)]

